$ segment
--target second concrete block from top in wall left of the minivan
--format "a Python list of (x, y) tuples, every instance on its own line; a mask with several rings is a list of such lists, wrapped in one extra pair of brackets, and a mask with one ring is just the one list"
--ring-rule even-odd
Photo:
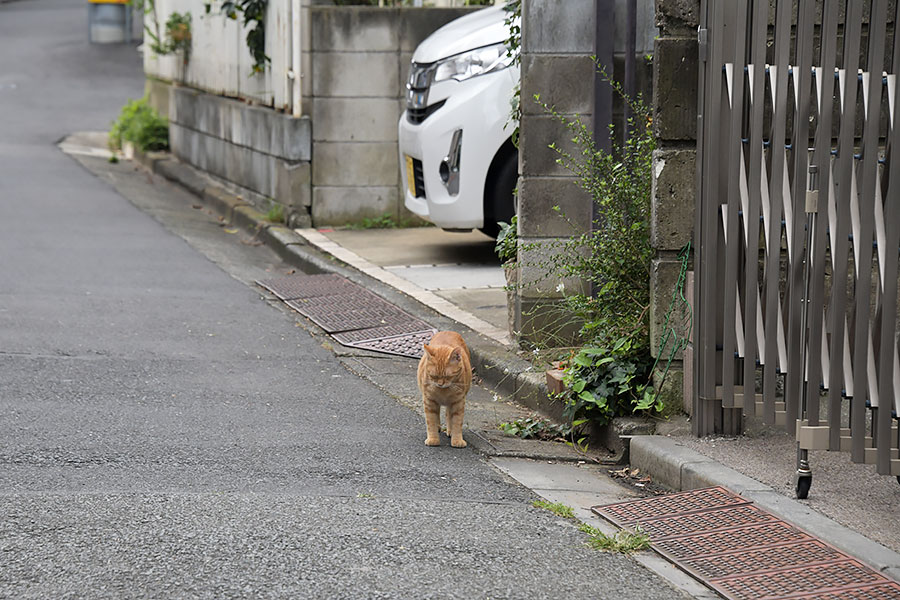
[(396, 52), (317, 52), (312, 63), (313, 96), (397, 97)]

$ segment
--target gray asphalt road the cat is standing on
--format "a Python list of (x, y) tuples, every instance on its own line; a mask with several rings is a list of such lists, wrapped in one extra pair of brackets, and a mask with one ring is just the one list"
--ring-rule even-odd
[(60, 152), (142, 93), (86, 10), (0, 4), (0, 598), (679, 596), (426, 448), (250, 284), (285, 268), (266, 248)]

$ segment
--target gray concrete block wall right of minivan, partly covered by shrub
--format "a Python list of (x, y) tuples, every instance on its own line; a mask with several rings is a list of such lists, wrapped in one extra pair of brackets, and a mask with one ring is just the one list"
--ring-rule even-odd
[[(617, 0), (617, 30), (614, 42), (613, 78), (624, 73), (624, 6)], [(636, 80), (638, 90), (649, 97), (649, 53), (655, 37), (650, 0), (638, 1)], [(547, 278), (546, 256), (560, 240), (587, 230), (591, 224), (592, 199), (564, 167), (555, 143), (575, 150), (572, 135), (557, 118), (534, 101), (553, 106), (565, 118), (579, 117), (591, 129), (594, 107), (595, 18), (594, 0), (527, 0), (522, 13), (522, 121), (519, 144), (519, 264), (520, 281), (515, 306), (515, 328), (520, 340), (541, 345), (565, 341), (578, 324), (567, 322), (559, 309), (559, 281)], [(616, 98), (613, 119), (622, 119), (622, 103)], [(621, 129), (621, 128), (620, 128)], [(564, 217), (553, 210), (559, 206)], [(530, 249), (526, 249), (530, 248)], [(567, 281), (572, 290), (580, 282)], [(563, 321), (560, 318), (563, 318)]]

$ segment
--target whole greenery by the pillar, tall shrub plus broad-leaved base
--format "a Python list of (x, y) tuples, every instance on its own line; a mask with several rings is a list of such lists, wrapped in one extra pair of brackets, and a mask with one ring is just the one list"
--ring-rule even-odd
[[(583, 344), (566, 361), (566, 391), (560, 395), (564, 414), (575, 427), (588, 422), (604, 425), (616, 416), (661, 408), (649, 386), (652, 121), (640, 98), (629, 98), (603, 75), (634, 115), (622, 142), (615, 141), (615, 127), (609, 126), (610, 152), (597, 148), (593, 132), (580, 118), (567, 118), (541, 103), (566, 126), (575, 146), (567, 151), (551, 144), (557, 162), (577, 177), (599, 216), (589, 231), (573, 224), (575, 233), (569, 238), (521, 248), (525, 255), (549, 256), (541, 264), (527, 265), (540, 267), (537, 270), (546, 273), (546, 279), (571, 278), (585, 284), (585, 291), (566, 293), (563, 284), (556, 288), (563, 292), (569, 320), (580, 324)], [(540, 103), (539, 96), (535, 100)], [(566, 218), (558, 206), (554, 210)]]

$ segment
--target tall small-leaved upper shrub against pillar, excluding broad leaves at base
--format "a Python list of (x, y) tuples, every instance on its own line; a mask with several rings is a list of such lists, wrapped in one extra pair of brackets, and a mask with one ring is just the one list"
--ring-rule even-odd
[[(650, 190), (656, 142), (649, 108), (640, 98), (628, 98), (615, 82), (610, 85), (631, 105), (634, 115), (629, 120), (630, 135), (622, 143), (615, 141), (615, 126), (609, 126), (611, 152), (597, 148), (592, 131), (579, 117), (567, 119), (542, 104), (565, 124), (578, 148), (570, 153), (551, 144), (559, 154), (557, 162), (577, 177), (599, 215), (590, 231), (559, 244), (560, 252), (550, 259), (550, 271), (554, 277), (575, 277), (593, 288), (593, 294), (567, 297), (569, 307), (585, 323), (586, 339), (625, 337), (639, 349), (649, 345)], [(558, 206), (554, 209), (565, 218)]]

